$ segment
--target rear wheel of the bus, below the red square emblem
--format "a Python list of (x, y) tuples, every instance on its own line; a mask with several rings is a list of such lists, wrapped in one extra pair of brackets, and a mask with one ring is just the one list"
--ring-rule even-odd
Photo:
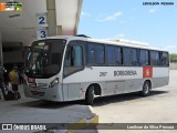
[(145, 81), (143, 84), (143, 90), (140, 92), (142, 96), (147, 96), (150, 93), (150, 82), (149, 81)]

